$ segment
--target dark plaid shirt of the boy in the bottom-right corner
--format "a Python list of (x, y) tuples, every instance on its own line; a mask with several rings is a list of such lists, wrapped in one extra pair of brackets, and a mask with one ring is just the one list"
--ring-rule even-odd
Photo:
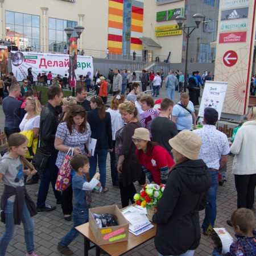
[[(226, 256), (256, 256), (256, 231), (253, 232), (254, 237), (242, 237), (235, 235), (237, 241), (230, 245), (229, 252)], [(214, 248), (213, 256), (222, 255), (218, 249)]]

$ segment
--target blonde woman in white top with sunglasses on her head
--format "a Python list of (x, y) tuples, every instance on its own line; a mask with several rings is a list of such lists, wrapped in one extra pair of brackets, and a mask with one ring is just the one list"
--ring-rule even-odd
[(39, 125), (40, 125), (40, 113), (41, 106), (37, 98), (27, 97), (27, 101), (24, 104), (26, 114), (24, 115), (19, 129), (20, 131), (30, 131), (33, 130), (34, 139), (38, 138)]

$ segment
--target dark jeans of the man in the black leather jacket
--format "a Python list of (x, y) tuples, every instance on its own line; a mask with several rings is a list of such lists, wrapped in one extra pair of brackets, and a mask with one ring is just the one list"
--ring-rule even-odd
[(59, 169), (55, 165), (57, 159), (57, 151), (53, 152), (47, 170), (43, 171), (41, 182), (38, 191), (38, 201), (36, 202), (36, 208), (43, 208), (46, 206), (46, 197), (49, 190), (49, 184), (52, 183), (53, 193), (57, 200), (61, 200), (61, 192), (56, 191), (55, 183)]

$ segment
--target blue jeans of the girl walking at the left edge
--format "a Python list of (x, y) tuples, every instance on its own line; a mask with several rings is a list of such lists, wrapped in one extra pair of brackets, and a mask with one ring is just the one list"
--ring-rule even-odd
[[(0, 255), (4, 256), (9, 242), (15, 234), (16, 225), (13, 217), (14, 202), (7, 202), (5, 206), (5, 233), (0, 240)], [(24, 201), (22, 224), (24, 228), (24, 239), (26, 242), (26, 249), (28, 253), (34, 251), (34, 220), (28, 212), (26, 201)]]

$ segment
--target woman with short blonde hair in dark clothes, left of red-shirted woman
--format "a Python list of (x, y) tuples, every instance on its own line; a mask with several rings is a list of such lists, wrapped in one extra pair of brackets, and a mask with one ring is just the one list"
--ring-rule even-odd
[(118, 106), (118, 110), (126, 125), (115, 135), (115, 158), (122, 207), (127, 207), (129, 200), (134, 203), (133, 196), (137, 193), (133, 183), (141, 177), (141, 164), (138, 163), (136, 147), (131, 141), (134, 130), (141, 127), (141, 123), (138, 121), (138, 110), (134, 102), (124, 101)]

